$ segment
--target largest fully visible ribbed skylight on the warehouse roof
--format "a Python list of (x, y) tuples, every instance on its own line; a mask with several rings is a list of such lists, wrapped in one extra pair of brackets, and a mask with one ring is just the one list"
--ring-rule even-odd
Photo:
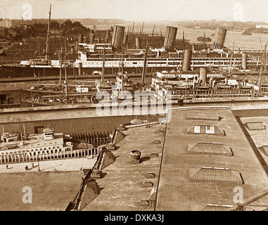
[(227, 183), (243, 184), (240, 173), (229, 168), (201, 167), (198, 172), (190, 173), (190, 181), (220, 181)]

